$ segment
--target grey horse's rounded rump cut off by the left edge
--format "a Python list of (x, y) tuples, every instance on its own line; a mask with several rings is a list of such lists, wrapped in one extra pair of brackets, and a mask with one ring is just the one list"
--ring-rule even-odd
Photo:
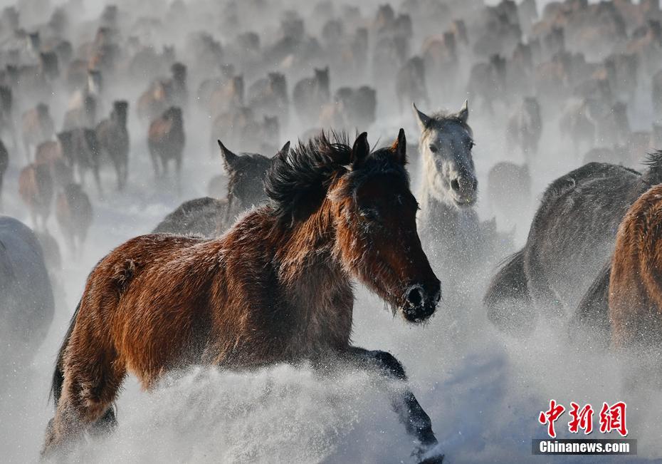
[(53, 313), (51, 280), (36, 235), (19, 220), (0, 216), (0, 366), (29, 363)]

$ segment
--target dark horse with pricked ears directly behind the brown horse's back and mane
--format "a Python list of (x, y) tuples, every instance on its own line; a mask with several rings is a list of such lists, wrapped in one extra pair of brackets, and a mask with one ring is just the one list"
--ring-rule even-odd
[[(262, 182), (271, 164), (270, 158), (258, 153), (235, 155), (219, 140), (221, 155), (230, 180), (225, 198), (202, 197), (188, 200), (167, 215), (153, 234), (201, 235), (218, 237), (236, 217), (254, 205), (266, 201)], [(280, 149), (287, 154), (290, 143)]]

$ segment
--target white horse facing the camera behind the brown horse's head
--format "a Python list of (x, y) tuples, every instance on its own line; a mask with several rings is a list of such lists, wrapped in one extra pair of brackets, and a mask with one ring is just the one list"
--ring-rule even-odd
[[(478, 179), (473, 163), (473, 131), (468, 103), (457, 113), (426, 115), (414, 105), (421, 128), (419, 234), (426, 254), (446, 288), (468, 292), (477, 270), (496, 262), (499, 237), (495, 222), (480, 222), (475, 209)], [(486, 265), (487, 264), (487, 265)]]

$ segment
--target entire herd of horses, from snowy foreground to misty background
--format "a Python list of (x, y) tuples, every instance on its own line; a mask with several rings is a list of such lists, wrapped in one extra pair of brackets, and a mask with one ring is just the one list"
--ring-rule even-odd
[[(8, 64), (0, 69), (0, 135), (11, 145), (0, 141), (0, 192), (8, 173), (34, 225), (0, 217), (3, 365), (26, 364), (56, 315), (53, 269), (62, 257), (47, 232), (52, 210), (73, 262), (83, 256), (93, 205), (103, 210), (127, 191), (135, 195), (140, 142), (157, 180), (141, 195), (164, 195), (170, 180), (177, 202), (183, 189), (193, 191), (182, 171), (200, 160), (184, 153), (206, 152), (201, 121), (225, 170), (209, 180), (209, 196), (159, 215), (151, 233), (93, 267), (57, 354), (56, 412), (43, 457), (85, 433), (112, 431), (129, 374), (150, 390), (194, 364), (310, 363), (322, 375), (352, 366), (394, 383), (389, 399), (412, 455), (441, 463), (431, 418), (402, 364), (352, 344), (353, 282), (417, 328), (440, 306), (487, 319), (525, 344), (542, 321), (579, 330), (602, 351), (659, 351), (662, 152), (648, 152), (662, 131), (631, 130), (634, 105), (621, 101), (634, 102), (642, 70), (662, 66), (662, 11), (654, 3), (554, 2), (535, 22), (532, 0), (406, 0), (399, 14), (379, 6), (374, 19), (321, 1), (305, 21), (262, 0), (228, 1), (221, 19), (196, 10), (216, 14), (216, 6), (174, 1), (154, 17), (136, 13), (139, 5), (106, 6), (73, 34), (71, 1), (38, 26), (41, 36), (21, 28), (16, 9), (2, 11), (0, 60)], [(280, 26), (262, 33), (258, 16), (271, 9), (283, 13)], [(255, 24), (241, 24), (253, 16)], [(223, 46), (206, 32), (219, 23)], [(193, 27), (184, 46), (180, 25)], [(319, 36), (310, 36), (316, 26)], [(426, 28), (434, 33), (419, 37)], [(568, 50), (577, 37), (594, 48)], [(419, 38), (421, 51), (412, 55)], [(599, 53), (612, 39), (614, 49)], [(177, 43), (181, 61), (161, 43)], [(295, 78), (290, 95), (286, 76)], [(334, 92), (330, 76), (341, 83)], [(347, 85), (363, 79), (371, 85)], [(651, 81), (657, 117), (662, 71)], [(431, 110), (443, 107), (438, 96), (458, 94), (471, 98), (472, 114), (478, 107), (490, 118), (493, 133), (478, 125), (474, 133), (469, 102), (459, 104), (464, 96), (456, 111)], [(504, 108), (513, 111), (499, 118)], [(371, 148), (364, 130), (391, 120), (389, 110), (394, 128), (414, 117), (417, 143), (400, 129)], [(542, 192), (524, 246), (508, 257), (513, 234), (480, 219), (479, 192), (487, 190), (495, 210), (527, 216), (531, 172), (549, 148), (541, 143), (543, 121), (549, 131), (556, 116), (582, 166)], [(293, 128), (298, 143), (281, 145)], [(495, 134), (505, 134), (505, 150), (525, 163), (500, 160), (484, 189), (474, 148), (476, 139), (493, 147), (486, 139)], [(27, 164), (14, 172), (9, 155), (21, 152)], [(641, 172), (631, 168), (634, 157)], [(117, 193), (107, 187), (106, 168)], [(90, 172), (98, 202), (85, 191)], [(481, 281), (479, 270), (489, 279)]]

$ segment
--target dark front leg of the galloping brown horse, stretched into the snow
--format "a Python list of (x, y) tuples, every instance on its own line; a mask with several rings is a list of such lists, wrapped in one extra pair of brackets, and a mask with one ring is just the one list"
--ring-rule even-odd
[[(400, 361), (386, 351), (368, 351), (367, 349), (350, 347), (344, 356), (348, 356), (350, 362), (366, 369), (375, 371), (387, 379), (406, 382), (407, 376)], [(423, 410), (414, 393), (409, 388), (404, 388), (394, 393), (391, 398), (391, 406), (398, 414), (401, 423), (404, 424), (409, 435), (416, 438), (418, 445), (414, 450), (416, 458), (421, 463), (441, 464), (443, 455), (429, 453), (437, 444), (437, 439), (432, 431), (430, 417)]]

